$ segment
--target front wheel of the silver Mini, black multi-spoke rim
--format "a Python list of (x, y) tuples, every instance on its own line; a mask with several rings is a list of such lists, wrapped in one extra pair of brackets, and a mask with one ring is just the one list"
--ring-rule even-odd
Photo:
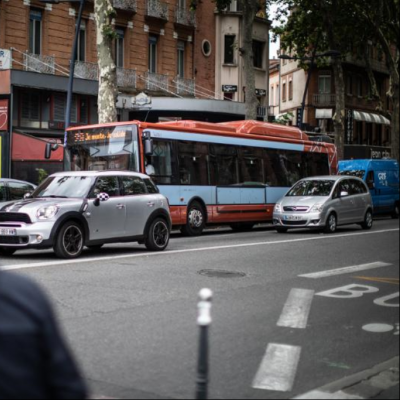
[(58, 232), (54, 252), (60, 258), (77, 258), (84, 247), (82, 227), (76, 222), (67, 222)]

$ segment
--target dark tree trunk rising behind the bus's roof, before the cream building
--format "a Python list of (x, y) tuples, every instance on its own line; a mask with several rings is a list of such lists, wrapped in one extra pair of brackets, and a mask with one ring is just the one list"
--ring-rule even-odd
[(258, 100), (253, 54), (253, 26), (258, 10), (257, 0), (243, 0), (243, 47), (244, 71), (246, 75), (246, 119), (257, 119)]

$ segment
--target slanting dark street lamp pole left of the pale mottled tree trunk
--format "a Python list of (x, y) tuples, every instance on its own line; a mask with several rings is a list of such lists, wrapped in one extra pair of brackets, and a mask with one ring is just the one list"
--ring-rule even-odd
[(76, 23), (75, 29), (75, 37), (74, 37), (74, 45), (72, 48), (71, 54), (71, 65), (69, 70), (69, 80), (68, 80), (68, 92), (67, 92), (67, 108), (65, 110), (65, 133), (64, 133), (64, 144), (67, 144), (67, 129), (69, 128), (71, 121), (71, 108), (72, 108), (72, 93), (74, 87), (74, 75), (75, 75), (75, 61), (76, 61), (76, 52), (78, 49), (78, 37), (79, 30), (81, 27), (82, 21), (82, 13), (83, 6), (85, 5), (85, 0), (40, 0), (41, 3), (46, 4), (59, 4), (59, 3), (80, 3), (79, 13), (78, 13), (78, 21)]

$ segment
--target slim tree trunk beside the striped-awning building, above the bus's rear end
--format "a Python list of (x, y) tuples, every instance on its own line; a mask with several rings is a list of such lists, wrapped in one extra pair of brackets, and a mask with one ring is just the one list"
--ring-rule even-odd
[(345, 127), (345, 85), (343, 65), (339, 58), (333, 61), (333, 74), (335, 77), (336, 89), (336, 112), (333, 117), (333, 126), (335, 129), (336, 147), (338, 151), (338, 159), (344, 159), (344, 127)]

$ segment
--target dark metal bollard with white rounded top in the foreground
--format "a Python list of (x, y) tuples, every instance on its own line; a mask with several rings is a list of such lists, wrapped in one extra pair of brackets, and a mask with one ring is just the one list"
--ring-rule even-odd
[(208, 398), (208, 331), (211, 325), (211, 306), (213, 293), (210, 289), (202, 289), (199, 293), (197, 325), (200, 327), (199, 358), (197, 364), (196, 399)]

